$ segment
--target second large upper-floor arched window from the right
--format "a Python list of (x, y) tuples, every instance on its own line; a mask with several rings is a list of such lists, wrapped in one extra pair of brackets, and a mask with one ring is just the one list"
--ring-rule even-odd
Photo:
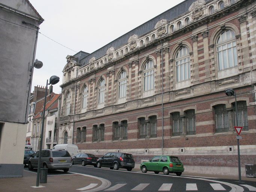
[(188, 48), (183, 46), (179, 49), (175, 57), (176, 62), (176, 81), (190, 79), (190, 56)]

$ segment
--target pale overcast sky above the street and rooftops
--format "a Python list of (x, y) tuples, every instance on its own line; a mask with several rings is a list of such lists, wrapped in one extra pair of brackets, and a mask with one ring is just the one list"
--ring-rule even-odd
[(184, 0), (29, 1), (44, 18), (35, 57), (43, 67), (33, 70), (31, 92), (57, 75), (60, 82), (53, 86), (53, 92), (61, 93), (67, 55), (96, 51)]

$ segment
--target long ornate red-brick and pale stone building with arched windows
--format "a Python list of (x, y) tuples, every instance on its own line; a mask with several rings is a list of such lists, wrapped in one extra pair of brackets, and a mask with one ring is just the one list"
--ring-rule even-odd
[(255, 13), (254, 0), (185, 0), (91, 54), (68, 55), (59, 143), (237, 175), (233, 126), (243, 126), (245, 175), (256, 162)]

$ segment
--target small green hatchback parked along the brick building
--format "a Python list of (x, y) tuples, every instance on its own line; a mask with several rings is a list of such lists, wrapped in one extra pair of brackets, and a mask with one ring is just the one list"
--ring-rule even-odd
[(143, 162), (140, 164), (140, 169), (142, 172), (154, 171), (155, 174), (159, 172), (164, 172), (165, 175), (168, 175), (170, 172), (176, 173), (180, 176), (184, 171), (183, 163), (175, 156), (155, 156), (148, 162)]

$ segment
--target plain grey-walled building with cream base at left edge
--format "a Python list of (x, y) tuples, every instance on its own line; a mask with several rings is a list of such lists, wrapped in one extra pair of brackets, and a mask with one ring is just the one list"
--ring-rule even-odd
[(0, 0), (0, 178), (22, 177), (33, 63), (44, 21), (28, 0)]

